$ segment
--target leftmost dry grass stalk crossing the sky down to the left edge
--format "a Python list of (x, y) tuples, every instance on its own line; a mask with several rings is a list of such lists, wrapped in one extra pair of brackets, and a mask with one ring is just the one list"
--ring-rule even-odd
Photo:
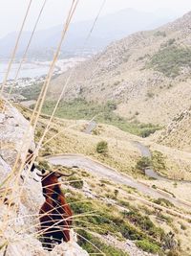
[(23, 20), (23, 23), (21, 25), (21, 29), (20, 29), (20, 32), (17, 36), (17, 39), (16, 39), (16, 43), (15, 43), (15, 46), (14, 46), (14, 49), (13, 49), (13, 52), (12, 52), (12, 55), (11, 55), (11, 59), (10, 59), (10, 62), (9, 62), (9, 65), (8, 65), (8, 70), (6, 72), (6, 75), (5, 75), (5, 78), (4, 78), (4, 81), (2, 83), (2, 87), (1, 87), (1, 90), (0, 90), (0, 96), (3, 94), (3, 91), (4, 91), (4, 87), (8, 81), (8, 77), (9, 77), (9, 74), (10, 74), (10, 71), (11, 71), (11, 64), (12, 64), (12, 61), (15, 57), (15, 54), (16, 54), (16, 51), (17, 51), (17, 48), (18, 48), (18, 44), (19, 44), (19, 41), (20, 41), (20, 38), (21, 38), (21, 35), (23, 33), (23, 28), (25, 26), (25, 23), (26, 23), (26, 20), (27, 20), (27, 17), (28, 17), (28, 14), (30, 12), (30, 9), (31, 9), (31, 6), (32, 6), (32, 0), (30, 0), (30, 3), (28, 5), (28, 8), (27, 8), (27, 12), (25, 14), (25, 17), (24, 17), (24, 20)]

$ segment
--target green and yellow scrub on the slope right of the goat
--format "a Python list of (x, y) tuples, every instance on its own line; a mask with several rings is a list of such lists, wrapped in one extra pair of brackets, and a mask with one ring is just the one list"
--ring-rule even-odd
[(89, 253), (97, 253), (92, 245), (95, 244), (106, 255), (127, 255), (104, 244), (95, 236), (96, 233), (100, 236), (110, 234), (118, 240), (132, 240), (144, 251), (162, 253), (165, 232), (130, 203), (126, 204), (127, 211), (121, 212), (115, 205), (103, 204), (97, 199), (87, 201), (81, 194), (73, 192), (70, 192), (68, 201), (77, 217), (74, 225), (77, 226), (79, 244)]

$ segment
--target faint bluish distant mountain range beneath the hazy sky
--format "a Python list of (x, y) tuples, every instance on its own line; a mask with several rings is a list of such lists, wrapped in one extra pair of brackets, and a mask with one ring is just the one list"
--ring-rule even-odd
[[(158, 27), (172, 20), (170, 14), (165, 15), (150, 12), (138, 12), (134, 9), (126, 9), (99, 17), (96, 27), (88, 40), (84, 54), (97, 52), (114, 40), (126, 35)], [(81, 54), (84, 41), (89, 34), (94, 20), (87, 20), (71, 24), (66, 40), (63, 44), (61, 57)], [(51, 59), (53, 50), (60, 38), (62, 26), (37, 31), (33, 36), (28, 58)], [(0, 39), (0, 58), (9, 58), (17, 33), (11, 33)], [(17, 57), (21, 57), (27, 44), (30, 32), (24, 32), (20, 41)]]

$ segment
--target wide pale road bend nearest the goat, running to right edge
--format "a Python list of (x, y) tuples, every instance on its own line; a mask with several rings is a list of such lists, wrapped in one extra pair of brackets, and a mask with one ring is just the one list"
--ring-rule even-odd
[(153, 189), (129, 175), (121, 174), (117, 172), (117, 170), (82, 154), (60, 154), (46, 157), (46, 159), (53, 165), (63, 165), (66, 167), (78, 166), (79, 168), (84, 169), (93, 175), (98, 175), (102, 178), (110, 179), (115, 183), (135, 188), (139, 192), (151, 198), (165, 198), (176, 206), (191, 209), (191, 205), (189, 203), (186, 203), (179, 198), (173, 198), (171, 195), (168, 195), (165, 192)]

